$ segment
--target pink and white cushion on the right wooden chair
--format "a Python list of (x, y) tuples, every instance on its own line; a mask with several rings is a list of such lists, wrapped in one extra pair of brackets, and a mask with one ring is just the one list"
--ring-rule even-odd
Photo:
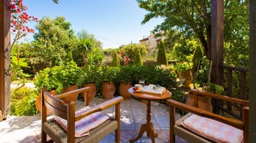
[(184, 128), (215, 142), (240, 143), (243, 131), (222, 122), (192, 114), (181, 122)]

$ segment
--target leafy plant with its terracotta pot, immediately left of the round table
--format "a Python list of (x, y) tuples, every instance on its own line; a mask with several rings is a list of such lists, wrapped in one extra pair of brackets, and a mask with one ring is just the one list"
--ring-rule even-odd
[(118, 74), (119, 93), (124, 99), (131, 98), (131, 95), (128, 92), (128, 89), (132, 87), (132, 77), (133, 73), (131, 72), (131, 67), (122, 66)]

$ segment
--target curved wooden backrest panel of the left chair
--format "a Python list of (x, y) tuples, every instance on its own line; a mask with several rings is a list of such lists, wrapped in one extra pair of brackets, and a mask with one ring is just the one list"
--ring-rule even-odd
[(44, 92), (43, 96), (44, 96), (44, 104), (47, 106), (47, 109), (51, 110), (51, 112), (56, 116), (60, 116), (66, 119), (67, 106), (65, 104), (62, 104), (59, 98), (53, 97), (48, 92)]

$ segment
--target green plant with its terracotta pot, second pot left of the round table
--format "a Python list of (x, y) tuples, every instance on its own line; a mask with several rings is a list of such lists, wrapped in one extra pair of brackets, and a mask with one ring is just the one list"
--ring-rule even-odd
[(114, 97), (116, 92), (116, 86), (114, 85), (114, 80), (116, 80), (116, 75), (119, 68), (104, 66), (101, 70), (102, 73), (102, 90), (101, 93), (103, 98), (110, 99)]

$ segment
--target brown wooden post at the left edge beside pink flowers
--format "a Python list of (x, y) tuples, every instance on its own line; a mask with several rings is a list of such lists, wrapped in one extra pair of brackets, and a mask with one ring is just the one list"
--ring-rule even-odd
[(3, 119), (9, 114), (10, 102), (10, 12), (9, 0), (0, 1), (0, 110)]

